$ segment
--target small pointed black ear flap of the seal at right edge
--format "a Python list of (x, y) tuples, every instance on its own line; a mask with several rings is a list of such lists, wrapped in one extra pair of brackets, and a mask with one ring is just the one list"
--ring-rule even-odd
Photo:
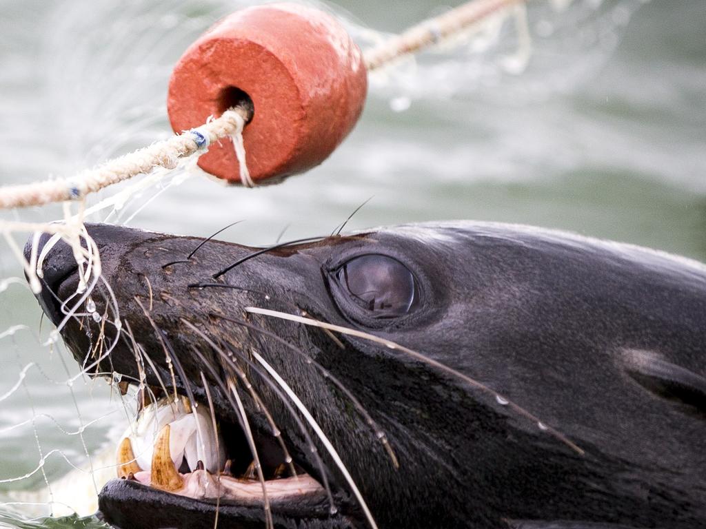
[(640, 349), (623, 351), (626, 372), (653, 394), (706, 416), (706, 378)]

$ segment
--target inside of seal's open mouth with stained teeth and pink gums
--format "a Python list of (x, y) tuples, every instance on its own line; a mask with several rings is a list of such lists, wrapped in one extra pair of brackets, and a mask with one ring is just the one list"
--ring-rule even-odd
[[(152, 402), (141, 405), (145, 393)], [(207, 504), (214, 512), (238, 506), (296, 518), (331, 516), (322, 485), (273, 440), (279, 432), (250, 430), (255, 457), (239, 424), (185, 396), (155, 397), (161, 393), (155, 387), (138, 390), (138, 413), (116, 443), (118, 478), (131, 482), (132, 490), (181, 497), (182, 507), (198, 502), (201, 511)], [(101, 495), (110, 490), (106, 485)]]

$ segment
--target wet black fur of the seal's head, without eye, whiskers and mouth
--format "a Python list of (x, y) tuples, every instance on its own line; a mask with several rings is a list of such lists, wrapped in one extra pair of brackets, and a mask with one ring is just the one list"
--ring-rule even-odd
[[(159, 366), (161, 379), (171, 384), (164, 347), (134, 299), (149, 306), (148, 282), (150, 317), (178, 356), (196, 399), (205, 401), (203, 371), (217, 414), (237, 422), (217, 377), (204, 365), (222, 382), (231, 370), (221, 353), (228, 353), (249, 373), (294, 459), (321, 480), (297, 424), (248, 363), (255, 348), (309, 407), (381, 528), (706, 526), (706, 386), (699, 385), (706, 375), (706, 269), (699, 265), (556, 232), (455, 223), (278, 248), (214, 280), (213, 274), (253, 249), (208, 241), (190, 260), (179, 262), (198, 239), (114, 226), (89, 230), (100, 246), (120, 317)], [(366, 320), (336, 297), (330, 272), (367, 253), (390, 255), (412, 270), (421, 296), (411, 315)], [(169, 262), (174, 264), (162, 268)], [(75, 291), (66, 247), (49, 255), (47, 267), (47, 283), (60, 298)], [(98, 286), (93, 296), (100, 312), (104, 293)], [(59, 320), (46, 292), (42, 304)], [(340, 348), (320, 329), (247, 314), (243, 309), (249, 305), (304, 310), (424, 353), (507, 396), (585, 454), (501, 406), (492, 394), (404, 353), (348, 336), (338, 336), (345, 346)], [(304, 355), (220, 316), (274, 332), (330, 370), (385, 432), (400, 468), (345, 395)], [(221, 353), (183, 320), (201, 329)], [(80, 327), (72, 320), (62, 332), (80, 363), (92, 345), (86, 321)], [(95, 340), (96, 325), (90, 329)], [(108, 326), (109, 341), (115, 335)], [(138, 377), (124, 334), (100, 367)], [(157, 385), (151, 372), (148, 382)], [(183, 382), (177, 381), (181, 393)], [(256, 429), (267, 432), (263, 415), (245, 392), (243, 397)], [(298, 526), (365, 527), (345, 481), (317, 446), (339, 513), (330, 519), (325, 513), (305, 516), (308, 521)], [(184, 527), (191, 526), (189, 516), (195, 524), (212, 520), (213, 508), (183, 498), (159, 499), (160, 494), (115, 482), (104, 489), (100, 505), (109, 521), (124, 527), (138, 527), (138, 519), (140, 527), (172, 526), (174, 512)], [(154, 505), (171, 504), (172, 514), (166, 507), (140, 509), (147, 497), (157, 501)], [(131, 501), (136, 507), (126, 508)], [(246, 516), (225, 509), (220, 526), (255, 526), (252, 520), (262, 520), (258, 512)], [(289, 527), (295, 518), (280, 516), (277, 527)]]

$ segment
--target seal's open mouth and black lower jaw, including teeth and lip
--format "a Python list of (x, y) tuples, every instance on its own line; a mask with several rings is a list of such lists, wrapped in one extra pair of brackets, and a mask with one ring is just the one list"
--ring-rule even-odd
[[(154, 395), (160, 390), (148, 391)], [(119, 479), (100, 493), (100, 512), (106, 521), (125, 527), (163, 527), (165, 523), (179, 527), (172, 520), (173, 512), (167, 512), (167, 506), (172, 506), (185, 516), (190, 513), (184, 527), (199, 526), (193, 513), (201, 513), (208, 519), (205, 526), (213, 527), (216, 511), (221, 520), (227, 516), (237, 522), (236, 527), (249, 527), (249, 521), (256, 520), (262, 527), (269, 504), (273, 513), (297, 523), (317, 519), (325, 520), (327, 527), (347, 526), (343, 522), (335, 525), (328, 494), (315, 478), (291, 458), (283, 458), (265, 436), (253, 434), (264, 462), (264, 480), (259, 480), (255, 461), (245, 463), (252, 456), (242, 430), (208, 409), (201, 403), (191, 406), (186, 397), (169, 396), (138, 410), (117, 443)], [(282, 463), (273, 464), (278, 459)], [(139, 512), (138, 518), (149, 521), (146, 525), (137, 521)]]

